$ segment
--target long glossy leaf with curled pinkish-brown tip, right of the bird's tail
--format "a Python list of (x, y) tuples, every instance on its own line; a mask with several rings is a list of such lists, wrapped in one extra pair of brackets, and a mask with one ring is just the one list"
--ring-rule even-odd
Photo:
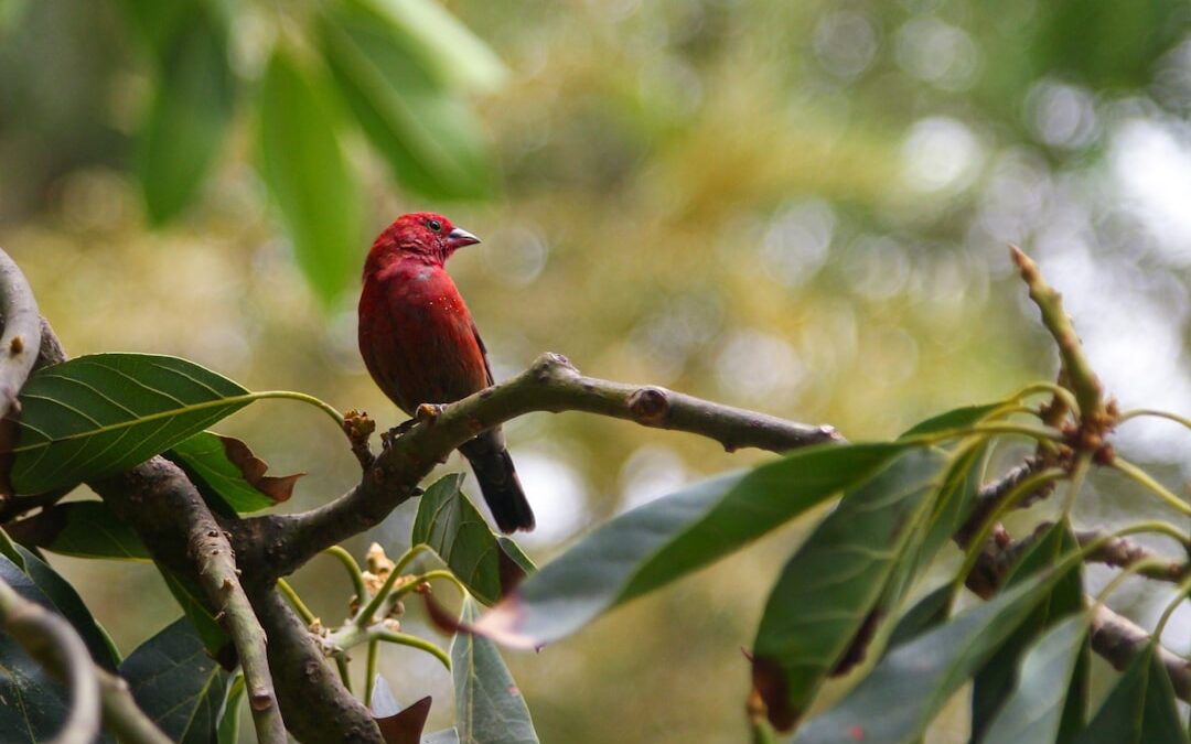
[(562, 638), (855, 487), (908, 446), (806, 448), (625, 512), (526, 579), (478, 630), (520, 648)]

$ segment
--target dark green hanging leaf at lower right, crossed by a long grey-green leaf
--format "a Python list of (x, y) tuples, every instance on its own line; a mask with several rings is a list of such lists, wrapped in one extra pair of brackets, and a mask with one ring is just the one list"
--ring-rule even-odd
[[(1005, 577), (1005, 586), (1015, 586), (1034, 576), (1064, 557), (1079, 550), (1070, 526), (1064, 523), (1052, 525), (1035, 539), (1034, 544), (1012, 567)], [(1012, 636), (999, 648), (977, 674), (972, 687), (972, 732), (979, 739), (991, 723), (993, 715), (1012, 692), (1017, 668), (1027, 648), (1047, 627), (1058, 619), (1084, 609), (1084, 586), (1080, 569), (1075, 568), (1062, 576), (1046, 594), (1042, 601), (1030, 613)], [(1078, 696), (1077, 696), (1078, 698)], [(1073, 698), (1072, 702), (1078, 702)], [(1083, 718), (1083, 711), (1077, 718)]]

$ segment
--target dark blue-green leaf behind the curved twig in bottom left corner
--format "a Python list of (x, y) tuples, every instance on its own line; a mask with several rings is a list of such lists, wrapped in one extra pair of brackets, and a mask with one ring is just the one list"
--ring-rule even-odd
[[(14, 546), (26, 574), (0, 556), (0, 581), (20, 596), (64, 617), (79, 632), (96, 663), (116, 669), (114, 656), (102, 629), (91, 617), (74, 588), (35, 555)], [(51, 680), (11, 637), (0, 633), (0, 732), (5, 742), (46, 742), (69, 712), (67, 690)]]

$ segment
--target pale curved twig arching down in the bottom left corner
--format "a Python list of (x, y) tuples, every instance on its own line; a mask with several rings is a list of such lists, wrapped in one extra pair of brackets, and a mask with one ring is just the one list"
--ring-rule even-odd
[(54, 744), (91, 744), (99, 733), (99, 681), (79, 634), (40, 605), (0, 581), (0, 627), (20, 648), (70, 688), (70, 712)]

